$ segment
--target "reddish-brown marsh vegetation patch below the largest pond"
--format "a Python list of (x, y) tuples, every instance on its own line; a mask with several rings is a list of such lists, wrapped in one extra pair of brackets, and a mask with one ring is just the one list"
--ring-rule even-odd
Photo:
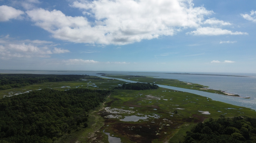
[(172, 123), (170, 120), (154, 119), (150, 121), (121, 122), (115, 119), (106, 119), (105, 125), (114, 132), (114, 135), (120, 135), (132, 142), (144, 143), (159, 139), (162, 142), (168, 141), (173, 130), (183, 122)]

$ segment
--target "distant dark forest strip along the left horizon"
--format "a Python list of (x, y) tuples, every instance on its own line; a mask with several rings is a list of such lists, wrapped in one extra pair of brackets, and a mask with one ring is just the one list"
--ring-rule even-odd
[(88, 79), (89, 75), (0, 74), (0, 90), (45, 82), (76, 81), (82, 78)]

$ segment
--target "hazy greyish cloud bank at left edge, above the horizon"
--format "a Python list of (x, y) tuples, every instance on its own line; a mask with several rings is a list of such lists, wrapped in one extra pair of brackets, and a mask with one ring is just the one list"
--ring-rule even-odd
[(0, 38), (0, 56), (2, 59), (13, 57), (50, 57), (52, 54), (70, 52), (53, 47), (53, 42), (44, 40), (14, 40), (9, 36)]

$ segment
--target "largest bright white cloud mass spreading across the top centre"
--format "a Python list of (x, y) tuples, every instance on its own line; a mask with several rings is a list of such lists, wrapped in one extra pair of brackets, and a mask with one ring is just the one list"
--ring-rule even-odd
[(143, 39), (172, 36), (182, 28), (196, 28), (212, 11), (194, 7), (191, 0), (75, 1), (86, 17), (67, 16), (59, 10), (29, 10), (35, 24), (54, 38), (90, 44), (128, 44)]

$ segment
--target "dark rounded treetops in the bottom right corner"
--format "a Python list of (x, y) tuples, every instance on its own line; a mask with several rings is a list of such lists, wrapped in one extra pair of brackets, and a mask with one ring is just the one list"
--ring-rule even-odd
[(212, 118), (187, 132), (184, 143), (255, 143), (256, 119), (248, 117)]

